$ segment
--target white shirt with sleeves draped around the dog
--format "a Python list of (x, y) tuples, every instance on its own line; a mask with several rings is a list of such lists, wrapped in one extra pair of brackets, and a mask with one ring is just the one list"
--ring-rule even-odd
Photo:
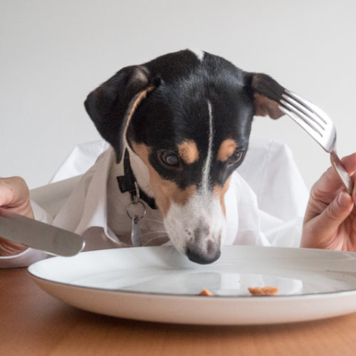
[[(36, 219), (82, 235), (85, 251), (130, 246), (108, 223), (113, 155), (103, 140), (75, 147), (50, 184), (31, 191)], [(123, 199), (129, 199), (126, 194)], [(288, 147), (251, 137), (246, 158), (226, 192), (224, 244), (298, 247), (307, 202), (308, 190)], [(120, 219), (123, 225), (130, 224), (128, 216)], [(0, 257), (0, 268), (28, 266), (45, 256), (28, 248), (16, 256)]]

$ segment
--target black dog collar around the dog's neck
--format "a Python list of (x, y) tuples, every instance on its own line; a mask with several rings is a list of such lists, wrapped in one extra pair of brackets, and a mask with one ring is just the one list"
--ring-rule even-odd
[[(120, 165), (123, 166), (123, 175), (116, 177), (117, 183), (119, 184), (120, 192), (126, 193), (129, 192), (131, 197), (136, 197), (136, 187), (135, 187), (135, 175), (132, 172), (131, 164), (130, 164), (130, 153), (126, 149), (125, 155)], [(122, 168), (122, 167), (121, 167)], [(122, 171), (122, 169), (121, 169)], [(156, 201), (154, 198), (149, 197), (142, 189), (139, 187), (140, 190), (140, 199), (145, 201), (151, 209), (158, 209), (156, 205)], [(132, 200), (132, 199), (131, 199)]]

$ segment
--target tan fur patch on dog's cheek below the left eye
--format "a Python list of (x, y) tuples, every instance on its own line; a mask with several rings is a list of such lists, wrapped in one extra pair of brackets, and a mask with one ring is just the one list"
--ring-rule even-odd
[(150, 160), (148, 159), (151, 150), (150, 147), (132, 142), (132, 148), (150, 171), (150, 185), (155, 192), (156, 204), (163, 217), (167, 216), (172, 201), (176, 204), (184, 205), (194, 194), (197, 194), (197, 187), (195, 185), (191, 185), (186, 189), (179, 189), (174, 182), (163, 179), (150, 164)]

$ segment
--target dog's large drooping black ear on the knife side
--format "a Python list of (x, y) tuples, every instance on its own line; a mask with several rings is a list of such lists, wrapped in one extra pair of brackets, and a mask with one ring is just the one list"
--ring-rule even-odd
[(145, 66), (122, 68), (93, 90), (85, 100), (85, 110), (100, 135), (114, 147), (119, 163), (124, 150), (127, 126), (141, 100), (157, 86)]

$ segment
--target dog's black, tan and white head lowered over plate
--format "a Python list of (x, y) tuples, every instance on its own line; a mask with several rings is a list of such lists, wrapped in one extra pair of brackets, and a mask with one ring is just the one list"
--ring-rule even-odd
[[(253, 115), (283, 113), (284, 88), (202, 51), (179, 51), (130, 66), (88, 95), (85, 108), (115, 149), (130, 146), (174, 246), (197, 263), (220, 256), (224, 194), (248, 148)], [(150, 189), (151, 192), (150, 192)]]

